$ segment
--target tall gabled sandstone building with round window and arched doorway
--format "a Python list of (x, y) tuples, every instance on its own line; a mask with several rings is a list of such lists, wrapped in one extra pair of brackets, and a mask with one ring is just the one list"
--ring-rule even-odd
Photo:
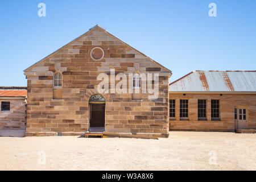
[[(109, 92), (98, 92), (100, 73), (109, 78)], [(110, 78), (119, 73), (132, 75), (126, 80), (132, 93), (112, 92), (119, 81)], [(149, 98), (151, 93), (142, 93), (146, 73), (158, 75), (155, 99)], [(24, 75), (27, 136), (110, 131), (168, 137), (171, 71), (100, 26), (27, 68)]]

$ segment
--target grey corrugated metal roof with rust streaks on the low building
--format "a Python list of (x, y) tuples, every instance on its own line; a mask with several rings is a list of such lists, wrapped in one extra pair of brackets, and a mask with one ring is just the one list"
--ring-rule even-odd
[(193, 71), (172, 82), (170, 92), (256, 92), (256, 71)]

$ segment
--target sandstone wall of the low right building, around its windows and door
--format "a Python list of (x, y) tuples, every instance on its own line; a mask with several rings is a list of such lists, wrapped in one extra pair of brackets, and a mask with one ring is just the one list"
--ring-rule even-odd
[[(170, 100), (176, 101), (175, 118), (170, 118), (170, 130), (235, 131), (237, 123), (234, 110), (236, 107), (247, 110), (247, 129), (256, 129), (256, 94), (185, 93), (185, 96), (183, 94), (172, 92), (169, 94)], [(180, 100), (188, 100), (187, 120), (180, 120)], [(206, 121), (198, 119), (198, 100), (207, 100)], [(219, 121), (211, 119), (211, 100), (220, 101)]]

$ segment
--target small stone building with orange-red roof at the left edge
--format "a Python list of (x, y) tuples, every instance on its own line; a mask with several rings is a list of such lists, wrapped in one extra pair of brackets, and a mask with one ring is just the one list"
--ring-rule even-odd
[(26, 87), (0, 86), (0, 130), (26, 129), (26, 98)]

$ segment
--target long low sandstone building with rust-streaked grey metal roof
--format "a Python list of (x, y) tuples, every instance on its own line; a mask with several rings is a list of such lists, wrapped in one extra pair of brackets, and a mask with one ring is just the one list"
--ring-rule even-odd
[(170, 130), (256, 129), (256, 71), (193, 71), (169, 86)]

